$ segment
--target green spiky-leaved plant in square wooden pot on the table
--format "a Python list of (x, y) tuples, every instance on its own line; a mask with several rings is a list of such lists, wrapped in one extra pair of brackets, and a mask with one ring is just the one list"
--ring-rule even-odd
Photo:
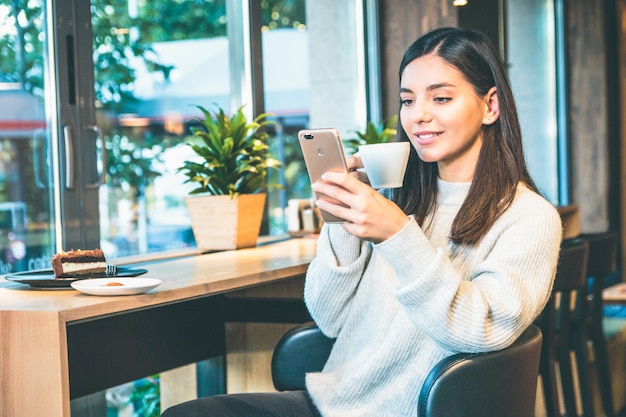
[(191, 128), (188, 142), (198, 160), (178, 168), (193, 189), (185, 199), (198, 248), (238, 249), (255, 246), (265, 207), (267, 173), (280, 167), (270, 157), (265, 127), (268, 114), (248, 121), (240, 107), (228, 117), (224, 110), (202, 106), (202, 118)]

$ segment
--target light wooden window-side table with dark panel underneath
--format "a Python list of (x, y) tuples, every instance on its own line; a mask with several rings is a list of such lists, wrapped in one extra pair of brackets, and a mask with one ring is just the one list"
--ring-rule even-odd
[(223, 295), (301, 277), (313, 239), (143, 264), (162, 285), (98, 297), (0, 279), (0, 415), (68, 417), (70, 399), (224, 353)]

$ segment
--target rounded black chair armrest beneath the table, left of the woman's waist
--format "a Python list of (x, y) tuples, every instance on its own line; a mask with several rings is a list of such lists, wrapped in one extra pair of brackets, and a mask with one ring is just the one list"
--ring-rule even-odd
[(322, 370), (334, 343), (313, 322), (285, 333), (272, 356), (274, 387), (278, 391), (305, 389), (306, 373)]

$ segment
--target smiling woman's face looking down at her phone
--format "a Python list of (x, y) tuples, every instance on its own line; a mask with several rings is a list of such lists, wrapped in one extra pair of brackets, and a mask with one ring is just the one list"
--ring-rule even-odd
[(461, 72), (436, 55), (413, 60), (400, 81), (400, 120), (419, 157), (437, 162), (445, 181), (474, 176), (483, 124), (497, 119), (495, 87), (480, 97)]

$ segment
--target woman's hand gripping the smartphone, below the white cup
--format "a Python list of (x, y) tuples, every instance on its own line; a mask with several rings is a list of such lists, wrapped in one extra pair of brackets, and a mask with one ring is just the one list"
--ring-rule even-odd
[(352, 175), (327, 172), (312, 188), (341, 203), (324, 198), (316, 202), (320, 209), (345, 219), (344, 230), (360, 239), (383, 242), (409, 222), (400, 207)]

